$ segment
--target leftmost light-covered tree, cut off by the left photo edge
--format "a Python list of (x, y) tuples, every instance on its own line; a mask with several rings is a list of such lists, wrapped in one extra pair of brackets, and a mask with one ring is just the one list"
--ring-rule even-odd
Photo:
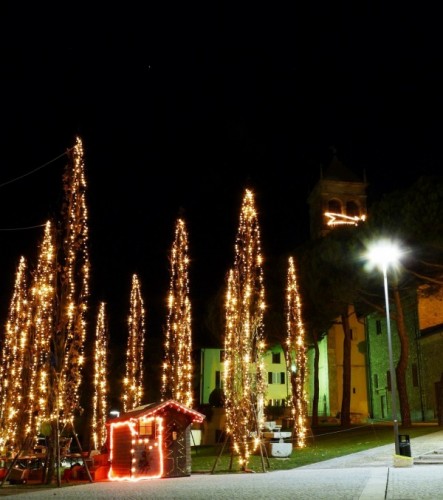
[(21, 411), (28, 392), (29, 377), (24, 376), (28, 339), (27, 262), (20, 258), (9, 306), (0, 361), (0, 454), (18, 449), (26, 433)]

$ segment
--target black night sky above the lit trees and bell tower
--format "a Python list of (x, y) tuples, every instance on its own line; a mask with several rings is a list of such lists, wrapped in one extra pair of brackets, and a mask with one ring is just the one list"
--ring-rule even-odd
[(121, 345), (133, 273), (147, 344), (162, 335), (178, 216), (200, 331), (233, 263), (246, 187), (272, 275), (309, 238), (307, 197), (331, 147), (366, 173), (369, 203), (441, 172), (436, 13), (382, 2), (156, 3), (2, 14), (2, 324), (20, 255), (37, 255), (43, 229), (34, 226), (59, 213), (63, 154), (76, 135), (89, 186), (90, 305), (107, 302)]

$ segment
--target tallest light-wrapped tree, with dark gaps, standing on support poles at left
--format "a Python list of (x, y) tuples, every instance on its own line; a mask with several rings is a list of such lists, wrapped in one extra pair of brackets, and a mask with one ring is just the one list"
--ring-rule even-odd
[[(49, 394), (53, 395), (50, 415), (57, 439), (57, 454), (60, 453), (59, 424), (62, 425), (62, 431), (73, 433), (77, 446), (82, 450), (75, 431), (74, 416), (83, 412), (79, 389), (84, 364), (90, 281), (87, 184), (83, 143), (79, 137), (74, 147), (67, 151), (67, 156), (68, 163), (63, 175), (64, 200), (58, 228), (57, 297), (51, 338), (54, 347), (51, 351), (48, 384)], [(55, 457), (52, 455), (51, 459)], [(86, 463), (85, 466), (89, 473)], [(52, 470), (52, 467), (49, 468), (48, 480)], [(92, 481), (90, 475), (89, 480)], [(60, 485), (59, 467), (57, 482)]]

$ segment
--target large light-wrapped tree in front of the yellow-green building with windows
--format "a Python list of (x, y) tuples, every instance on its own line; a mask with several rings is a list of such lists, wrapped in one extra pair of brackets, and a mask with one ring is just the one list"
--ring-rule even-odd
[(266, 391), (263, 337), (265, 290), (260, 228), (252, 191), (246, 190), (226, 296), (224, 391), (226, 432), (245, 470), (260, 445)]

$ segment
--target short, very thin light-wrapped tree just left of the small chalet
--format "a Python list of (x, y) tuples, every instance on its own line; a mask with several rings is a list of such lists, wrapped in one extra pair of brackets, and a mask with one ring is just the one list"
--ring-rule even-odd
[(106, 321), (106, 304), (100, 303), (94, 344), (94, 397), (92, 408), (92, 441), (100, 450), (106, 441), (108, 416), (108, 345), (109, 331)]

